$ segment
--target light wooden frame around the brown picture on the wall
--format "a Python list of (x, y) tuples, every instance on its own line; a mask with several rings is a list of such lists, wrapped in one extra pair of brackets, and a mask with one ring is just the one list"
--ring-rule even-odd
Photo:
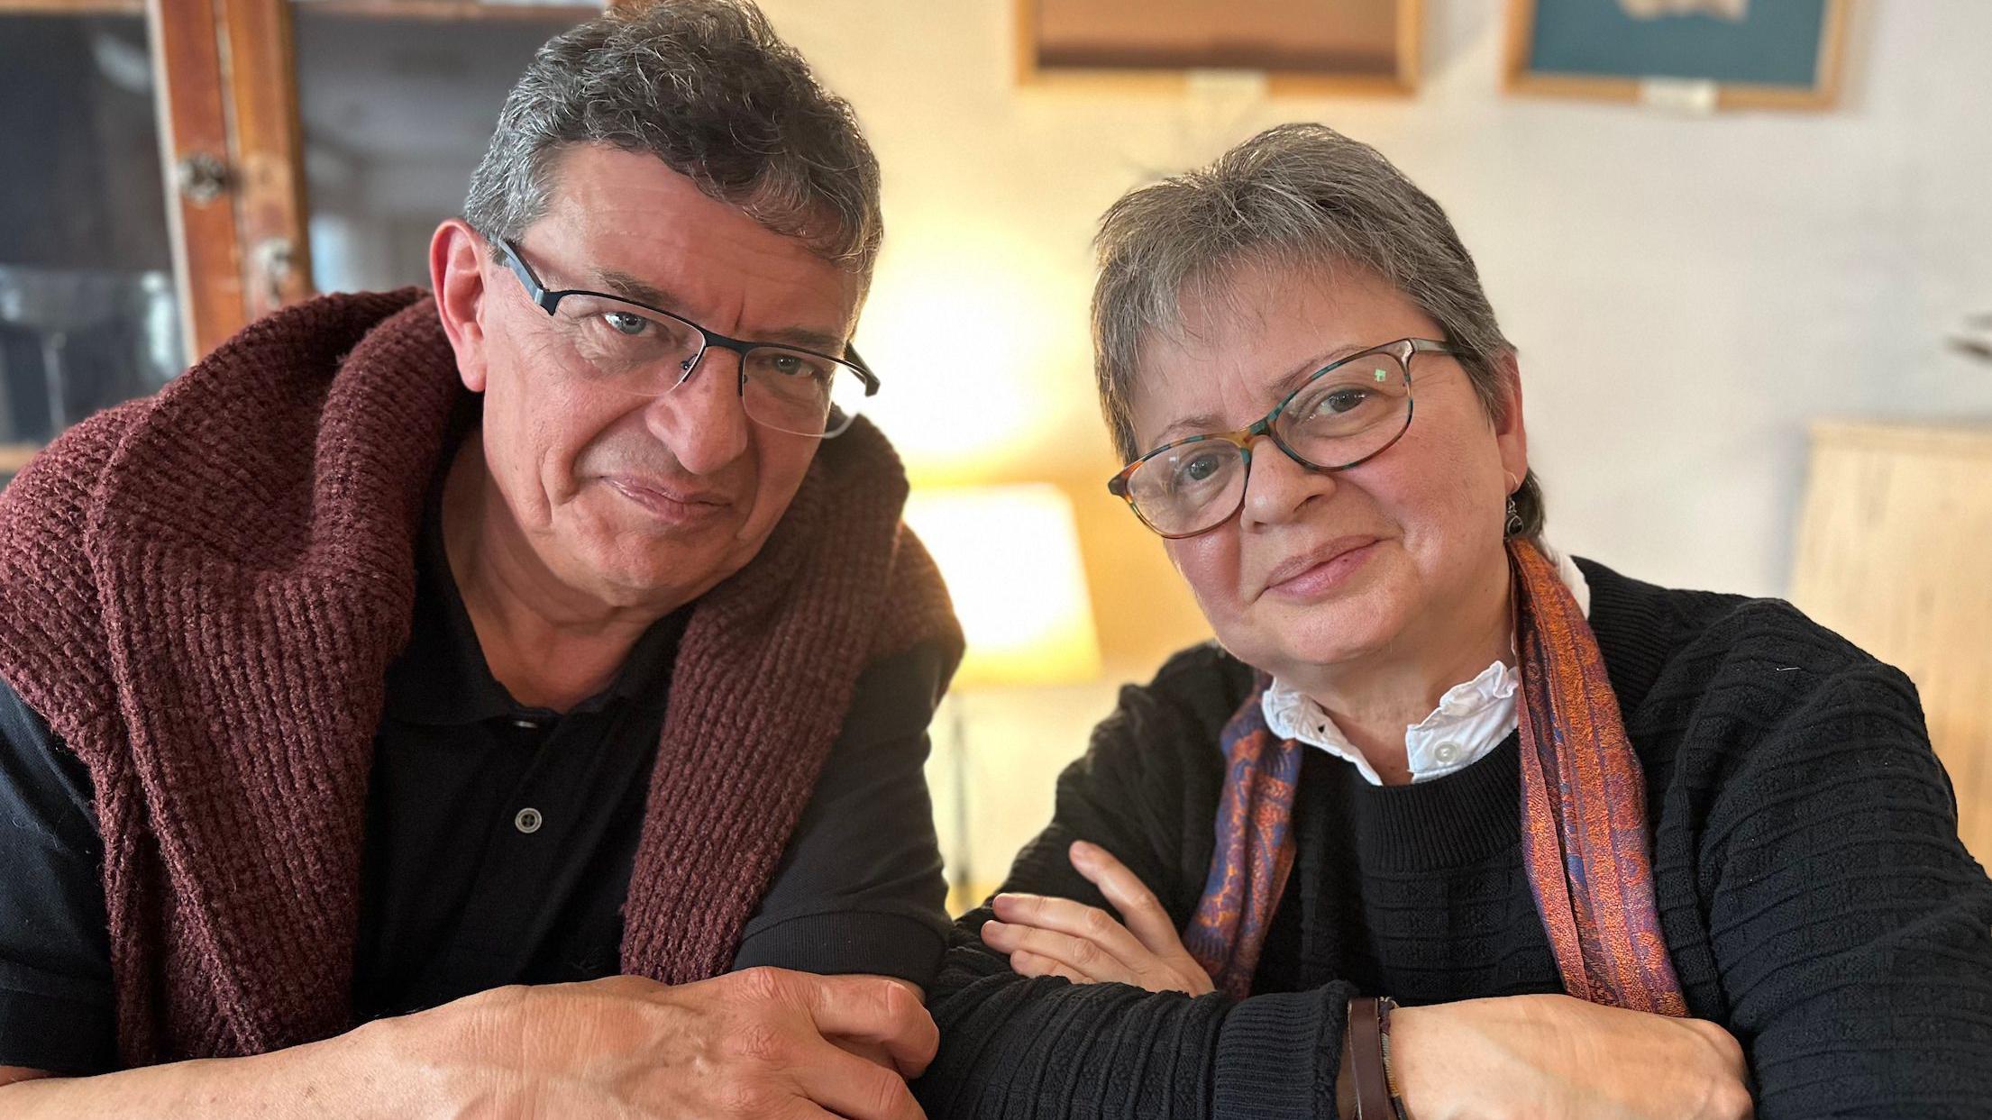
[[(1237, 12), (1239, 0), (1225, 6)], [(1347, 0), (1345, 0), (1347, 2)], [(1247, 72), (1263, 74), (1265, 88), (1273, 96), (1408, 96), (1418, 86), (1418, 58), (1422, 42), (1422, 0), (1369, 0), (1374, 8), (1390, 10), (1390, 32), (1386, 46), (1388, 60), (1363, 70), (1335, 70), (1333, 66), (1295, 66), (1291, 60), (1267, 58), (1255, 64), (1249, 54), (1227, 52), (1223, 58), (1199, 62), (1185, 58), (1167, 64), (1141, 64), (1139, 60), (1116, 58), (1060, 58), (1048, 52), (1040, 36), (1048, 6), (1094, 6), (1114, 8), (1114, 0), (1016, 0), (1016, 78), (1020, 86), (1038, 88), (1147, 88), (1159, 92), (1179, 92), (1189, 88), (1193, 72)], [(1291, 0), (1277, 2), (1277, 8), (1297, 6)], [(1323, 4), (1323, 10), (1333, 4)], [(1153, 20), (1149, 20), (1153, 24)], [(1048, 58), (1050, 54), (1050, 58)]]

